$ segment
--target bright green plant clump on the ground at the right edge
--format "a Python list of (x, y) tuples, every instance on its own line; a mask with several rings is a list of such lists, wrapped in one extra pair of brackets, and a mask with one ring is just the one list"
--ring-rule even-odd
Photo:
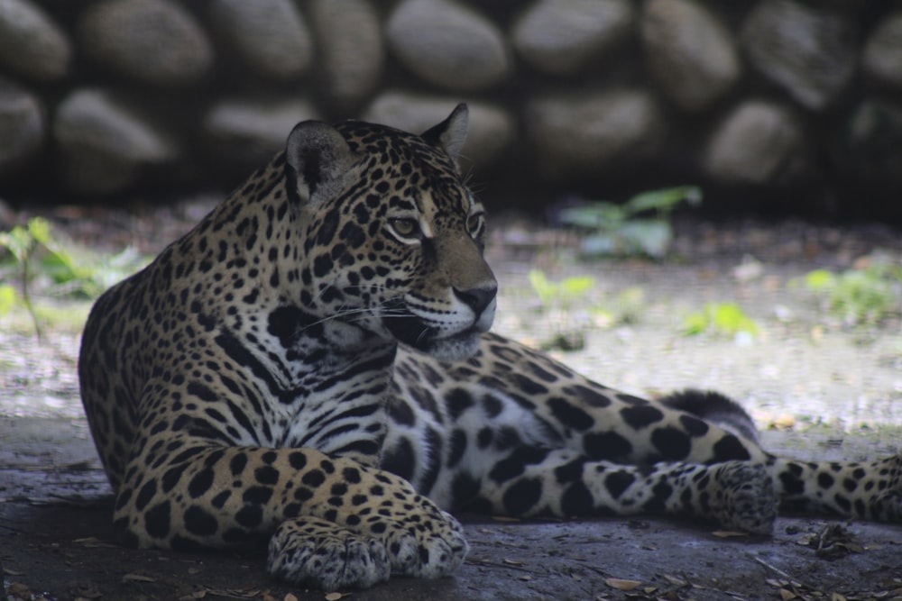
[(868, 261), (864, 268), (842, 273), (815, 269), (803, 281), (809, 291), (821, 297), (828, 311), (850, 325), (873, 325), (900, 312), (902, 266), (888, 261)]

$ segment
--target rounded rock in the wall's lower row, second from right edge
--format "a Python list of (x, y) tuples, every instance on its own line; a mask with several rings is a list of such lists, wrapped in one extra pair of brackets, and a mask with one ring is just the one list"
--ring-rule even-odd
[(751, 100), (714, 128), (702, 167), (724, 184), (780, 184), (803, 171), (808, 159), (798, 115), (783, 105)]

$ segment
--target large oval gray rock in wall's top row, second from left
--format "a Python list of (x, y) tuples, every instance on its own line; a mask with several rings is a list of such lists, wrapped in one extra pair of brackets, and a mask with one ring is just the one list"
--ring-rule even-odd
[(207, 34), (168, 0), (105, 0), (78, 21), (85, 54), (118, 75), (167, 87), (197, 82), (213, 64)]

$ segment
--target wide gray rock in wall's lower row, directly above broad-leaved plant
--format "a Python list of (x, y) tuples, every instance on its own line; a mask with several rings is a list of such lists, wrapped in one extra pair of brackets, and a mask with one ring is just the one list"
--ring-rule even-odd
[(535, 163), (549, 176), (599, 175), (660, 149), (664, 117), (644, 90), (529, 100), (524, 126)]

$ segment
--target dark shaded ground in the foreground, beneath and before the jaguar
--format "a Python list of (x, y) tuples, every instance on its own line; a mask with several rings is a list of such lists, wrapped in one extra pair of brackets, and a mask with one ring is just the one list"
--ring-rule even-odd
[[(83, 420), (4, 418), (0, 439), (5, 599), (339, 598), (267, 578), (260, 552), (116, 546)], [(341, 592), (361, 601), (902, 598), (899, 526), (780, 518), (760, 538), (645, 518), (464, 522), (472, 551), (453, 578)]]

